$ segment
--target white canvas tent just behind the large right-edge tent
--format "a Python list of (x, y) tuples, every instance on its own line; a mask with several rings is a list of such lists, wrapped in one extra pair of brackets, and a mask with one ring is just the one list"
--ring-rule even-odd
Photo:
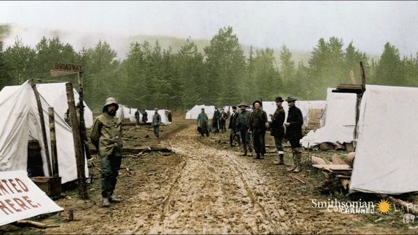
[(302, 146), (316, 146), (324, 142), (343, 144), (353, 142), (355, 126), (354, 93), (333, 93), (327, 89), (327, 104), (321, 121), (321, 128), (311, 130), (301, 139)]

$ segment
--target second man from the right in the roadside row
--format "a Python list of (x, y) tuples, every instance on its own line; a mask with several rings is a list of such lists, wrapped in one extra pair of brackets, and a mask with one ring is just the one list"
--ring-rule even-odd
[(284, 151), (283, 146), (281, 145), (281, 141), (284, 138), (284, 118), (286, 116), (283, 107), (281, 107), (281, 104), (283, 103), (283, 99), (279, 96), (276, 98), (276, 112), (274, 114), (270, 114), (272, 117), (272, 124), (271, 124), (271, 131), (270, 135), (274, 137), (274, 143), (276, 145), (276, 149), (279, 152), (279, 160), (275, 161), (274, 165), (284, 165)]

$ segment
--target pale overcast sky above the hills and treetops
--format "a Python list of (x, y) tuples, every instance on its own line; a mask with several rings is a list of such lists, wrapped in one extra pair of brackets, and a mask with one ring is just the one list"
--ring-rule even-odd
[(257, 47), (309, 52), (319, 38), (337, 36), (369, 54), (387, 41), (401, 54), (418, 52), (417, 1), (0, 1), (0, 24), (20, 27), (12, 36), (27, 44), (40, 39), (31, 31), (210, 39), (230, 25), (242, 44)]

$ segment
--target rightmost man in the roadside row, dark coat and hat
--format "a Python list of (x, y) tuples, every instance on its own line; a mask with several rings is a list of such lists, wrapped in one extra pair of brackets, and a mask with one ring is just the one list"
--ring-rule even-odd
[(302, 151), (300, 148), (300, 139), (302, 139), (302, 125), (303, 116), (298, 107), (295, 106), (295, 98), (288, 97), (287, 103), (289, 106), (288, 118), (284, 126), (286, 127), (286, 139), (291, 143), (293, 167), (288, 171), (295, 173), (300, 172), (300, 158), (302, 158)]

